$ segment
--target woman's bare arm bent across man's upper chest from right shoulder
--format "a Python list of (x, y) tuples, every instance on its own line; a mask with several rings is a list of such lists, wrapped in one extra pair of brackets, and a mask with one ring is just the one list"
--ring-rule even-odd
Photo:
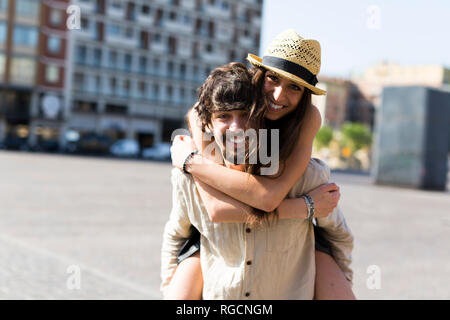
[[(190, 116), (195, 119), (195, 112), (191, 112)], [(277, 178), (250, 175), (229, 169), (201, 156), (193, 157), (189, 171), (198, 180), (223, 191), (232, 198), (249, 206), (272, 212), (281, 204), (281, 201), (308, 166), (312, 153), (312, 143), (321, 126), (321, 116), (315, 106), (312, 106), (306, 113), (304, 123), (300, 134), (301, 139), (286, 160), (283, 174)], [(193, 130), (194, 127), (193, 125)]]

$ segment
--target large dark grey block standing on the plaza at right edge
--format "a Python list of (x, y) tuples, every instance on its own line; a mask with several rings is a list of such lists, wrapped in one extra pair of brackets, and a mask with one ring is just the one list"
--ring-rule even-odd
[(378, 184), (445, 190), (450, 146), (450, 92), (388, 87), (375, 126)]

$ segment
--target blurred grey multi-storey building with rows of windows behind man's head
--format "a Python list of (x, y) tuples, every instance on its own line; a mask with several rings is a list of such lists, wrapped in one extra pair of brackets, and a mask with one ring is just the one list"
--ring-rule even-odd
[(262, 1), (78, 0), (66, 129), (141, 148), (184, 126), (216, 66), (258, 52)]

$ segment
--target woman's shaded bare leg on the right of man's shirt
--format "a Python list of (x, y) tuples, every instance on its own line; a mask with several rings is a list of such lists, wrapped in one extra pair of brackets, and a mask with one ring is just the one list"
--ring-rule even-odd
[(329, 254), (316, 250), (314, 300), (356, 300), (350, 282)]

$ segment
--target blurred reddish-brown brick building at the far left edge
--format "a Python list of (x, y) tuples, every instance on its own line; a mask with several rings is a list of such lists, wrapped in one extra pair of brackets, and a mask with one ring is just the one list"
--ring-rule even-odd
[(0, 0), (0, 141), (57, 146), (67, 1)]

